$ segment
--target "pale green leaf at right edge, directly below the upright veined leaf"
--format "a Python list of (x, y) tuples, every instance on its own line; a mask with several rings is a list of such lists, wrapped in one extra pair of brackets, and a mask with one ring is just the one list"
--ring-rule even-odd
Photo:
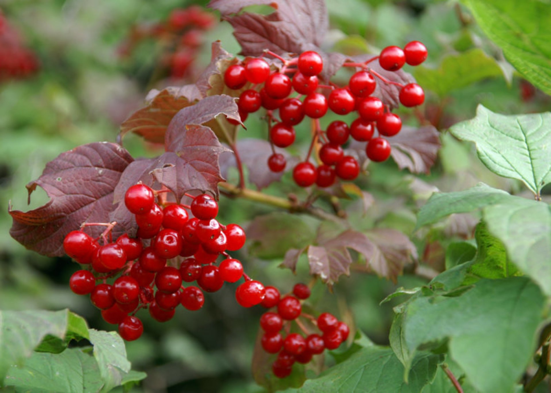
[(505, 245), (507, 255), (551, 296), (551, 211), (543, 202), (515, 197), (484, 209), (490, 233)]

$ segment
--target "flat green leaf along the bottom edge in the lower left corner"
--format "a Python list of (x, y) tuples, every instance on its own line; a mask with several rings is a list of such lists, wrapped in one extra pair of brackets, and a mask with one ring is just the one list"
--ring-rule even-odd
[(60, 354), (35, 352), (24, 367), (10, 367), (6, 384), (25, 392), (91, 392), (101, 389), (98, 363), (81, 348)]

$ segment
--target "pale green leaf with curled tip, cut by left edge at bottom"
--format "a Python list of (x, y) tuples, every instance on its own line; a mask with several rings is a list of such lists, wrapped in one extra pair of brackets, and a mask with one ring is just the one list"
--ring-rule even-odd
[(87, 337), (83, 329), (85, 324), (82, 318), (67, 309), (55, 312), (0, 311), (0, 381), (10, 365), (23, 364), (45, 337), (48, 341), (42, 351), (53, 352), (60, 352), (66, 335)]

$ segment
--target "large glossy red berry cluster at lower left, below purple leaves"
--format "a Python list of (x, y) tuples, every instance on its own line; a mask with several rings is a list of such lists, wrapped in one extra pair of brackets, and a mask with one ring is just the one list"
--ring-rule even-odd
[[(240, 261), (226, 253), (245, 244), (245, 232), (239, 225), (224, 226), (215, 219), (217, 201), (207, 194), (188, 195), (191, 205), (181, 205), (166, 203), (163, 195), (141, 183), (128, 188), (125, 204), (136, 217), (136, 238), (123, 234), (116, 242), (108, 241), (116, 223), (85, 223), (83, 228), (106, 225), (107, 229), (98, 239), (72, 231), (63, 241), (66, 254), (86, 266), (72, 275), (71, 290), (90, 294), (104, 320), (118, 324), (127, 341), (142, 335), (142, 321), (135, 315), (142, 308), (148, 308), (155, 320), (168, 321), (177, 305), (198, 310), (203, 307), (203, 291), (218, 291), (224, 282), (243, 276), (246, 282), (237, 291), (241, 304), (250, 307), (264, 296), (262, 284), (244, 275)], [(220, 255), (225, 259), (217, 266)], [(114, 281), (107, 283), (110, 279)], [(195, 281), (197, 286), (182, 285)], [(259, 293), (262, 298), (257, 301)]]

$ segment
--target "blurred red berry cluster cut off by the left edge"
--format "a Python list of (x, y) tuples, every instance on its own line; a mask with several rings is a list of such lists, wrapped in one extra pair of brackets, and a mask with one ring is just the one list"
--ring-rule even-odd
[(0, 81), (25, 78), (36, 72), (38, 61), (33, 52), (24, 47), (17, 31), (9, 26), (0, 13)]

